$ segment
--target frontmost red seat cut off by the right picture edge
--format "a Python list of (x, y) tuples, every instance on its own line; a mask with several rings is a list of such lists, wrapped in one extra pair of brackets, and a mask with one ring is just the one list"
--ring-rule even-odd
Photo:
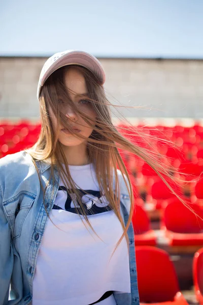
[(194, 254), (193, 282), (196, 299), (200, 305), (203, 305), (203, 248)]

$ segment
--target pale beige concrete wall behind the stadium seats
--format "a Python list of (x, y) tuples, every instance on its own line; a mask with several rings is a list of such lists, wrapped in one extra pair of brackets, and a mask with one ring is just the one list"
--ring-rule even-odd
[[(144, 107), (117, 108), (124, 116), (203, 117), (203, 60), (99, 60), (106, 71), (109, 100)], [(42, 57), (0, 57), (0, 117), (39, 117), (36, 93), (45, 61)]]

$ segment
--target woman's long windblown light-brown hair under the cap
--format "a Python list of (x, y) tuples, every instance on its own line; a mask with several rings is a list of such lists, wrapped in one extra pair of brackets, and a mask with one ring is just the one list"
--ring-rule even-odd
[[(176, 188), (171, 187), (172, 184), (174, 186), (178, 183), (175, 178), (175, 175), (172, 175), (172, 167), (167, 166), (162, 163), (162, 156), (158, 153), (158, 151), (153, 147), (153, 137), (146, 138), (146, 133), (142, 132), (142, 130), (137, 130), (130, 126), (128, 122), (128, 128), (122, 127), (122, 133), (119, 131), (118, 127), (115, 127), (112, 123), (111, 111), (110, 107), (116, 107), (112, 105), (105, 93), (105, 89), (103, 86), (97, 84), (94, 75), (84, 67), (80, 67), (74, 65), (75, 69), (80, 71), (86, 82), (86, 86), (88, 89), (88, 100), (91, 103), (91, 107), (96, 113), (96, 120), (92, 122), (91, 118), (87, 116), (86, 113), (77, 108), (75, 103), (70, 99), (69, 92), (64, 85), (64, 73), (69, 70), (72, 66), (65, 66), (54, 73), (47, 79), (44, 86), (42, 87), (40, 94), (40, 115), (41, 115), (41, 133), (38, 141), (31, 148), (26, 149), (27, 153), (29, 153), (32, 157), (32, 161), (36, 166), (36, 161), (47, 161), (51, 163), (51, 175), (49, 181), (47, 182), (46, 188), (44, 190), (44, 194), (46, 192), (47, 186), (52, 179), (54, 184), (54, 166), (57, 166), (60, 177), (62, 178), (65, 186), (67, 187), (67, 191), (69, 189), (74, 189), (76, 194), (76, 200), (81, 203), (81, 198), (79, 196), (79, 192), (74, 180), (71, 177), (68, 164), (66, 162), (65, 156), (63, 154), (63, 150), (61, 148), (60, 142), (57, 140), (59, 134), (59, 126), (64, 126), (64, 128), (70, 128), (69, 121), (66, 116), (60, 111), (59, 107), (59, 97), (65, 103), (70, 103), (70, 105), (74, 108), (74, 111), (79, 113), (81, 117), (93, 128), (93, 132), (90, 137), (87, 139), (87, 151), (89, 156), (89, 162), (93, 163), (96, 177), (98, 180), (99, 190), (102, 190), (105, 193), (107, 200), (109, 201), (110, 207), (115, 212), (118, 217), (122, 228), (123, 234), (119, 239), (115, 250), (119, 246), (123, 237), (127, 236), (127, 230), (130, 225), (132, 214), (134, 210), (134, 198), (133, 198), (133, 190), (130, 182), (130, 177), (128, 171), (124, 165), (124, 162), (121, 158), (120, 150), (127, 150), (133, 156), (136, 155), (139, 158), (145, 160), (146, 163), (150, 165), (152, 169), (161, 177), (161, 179), (165, 182), (167, 187), (171, 190), (173, 194), (185, 204), (185, 202), (180, 198), (179, 194), (177, 194), (174, 190)], [(86, 98), (85, 98), (86, 99)], [(48, 111), (48, 106), (51, 107), (56, 119), (57, 119), (57, 127), (54, 128), (50, 119), (50, 114)], [(124, 136), (125, 132), (128, 134), (126, 138)], [(137, 141), (133, 142), (130, 140), (130, 134), (134, 137), (136, 135)], [(82, 137), (81, 135), (77, 135), (78, 137)], [(142, 142), (147, 142), (148, 148), (139, 146)], [(167, 142), (167, 141), (166, 141)], [(62, 166), (62, 163), (65, 165), (65, 170)], [(38, 170), (37, 166), (36, 169)], [(125, 185), (127, 187), (127, 191), (130, 197), (130, 211), (127, 225), (125, 226), (121, 213), (120, 213), (120, 175), (118, 174), (118, 169), (122, 175), (122, 178), (125, 180)], [(176, 171), (173, 169), (174, 172)], [(39, 171), (38, 171), (39, 174)], [(40, 175), (39, 175), (40, 178)], [(115, 180), (115, 185), (113, 185), (113, 181)], [(170, 182), (168, 184), (168, 182)], [(42, 184), (41, 184), (42, 186)], [(85, 191), (84, 191), (85, 192)], [(75, 200), (74, 204), (77, 204)], [(84, 216), (86, 222), (92, 228), (88, 217), (86, 215), (85, 209), (82, 204), (81, 206), (81, 214)], [(44, 207), (49, 217), (49, 212), (45, 206)], [(77, 211), (78, 212), (78, 211)], [(78, 212), (78, 215), (81, 218), (81, 215)], [(50, 218), (50, 217), (49, 217)], [(82, 220), (82, 218), (81, 218)], [(83, 220), (82, 220), (83, 221)], [(96, 232), (94, 231), (96, 234)], [(127, 242), (127, 244), (128, 244)], [(114, 250), (114, 252), (115, 252)], [(113, 254), (114, 254), (113, 252)]]

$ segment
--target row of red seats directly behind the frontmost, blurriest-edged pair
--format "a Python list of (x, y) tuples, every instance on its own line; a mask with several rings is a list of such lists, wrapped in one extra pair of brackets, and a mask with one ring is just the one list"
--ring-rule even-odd
[[(163, 210), (160, 229), (169, 246), (203, 245), (203, 208), (197, 204), (190, 204), (189, 208), (174, 198)], [(134, 208), (132, 224), (136, 246), (157, 245), (147, 212), (139, 204)]]

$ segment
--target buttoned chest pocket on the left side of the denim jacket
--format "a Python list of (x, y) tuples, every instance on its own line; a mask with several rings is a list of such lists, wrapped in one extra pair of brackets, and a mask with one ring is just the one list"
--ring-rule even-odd
[(3, 203), (9, 219), (13, 239), (20, 236), (24, 220), (35, 198), (36, 196), (32, 193), (22, 191)]

